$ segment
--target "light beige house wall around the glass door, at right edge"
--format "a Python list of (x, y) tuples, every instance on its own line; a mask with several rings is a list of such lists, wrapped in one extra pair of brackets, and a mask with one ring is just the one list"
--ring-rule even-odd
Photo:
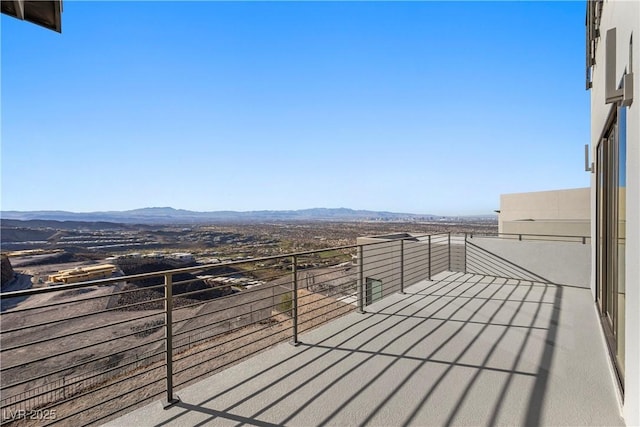
[[(616, 75), (633, 73), (633, 103), (627, 109), (626, 141), (626, 298), (620, 307), (625, 316), (625, 372), (623, 415), (627, 425), (640, 425), (640, 2), (607, 0), (602, 4), (600, 37), (592, 69), (591, 159), (617, 105), (605, 102), (605, 35), (616, 28)], [(631, 40), (633, 38), (633, 43)], [(633, 59), (632, 59), (633, 58)], [(576, 77), (577, 78), (577, 77)], [(596, 165), (597, 167), (597, 165)], [(591, 230), (596, 227), (596, 174), (591, 175)], [(591, 287), (596, 293), (596, 249), (592, 243)]]

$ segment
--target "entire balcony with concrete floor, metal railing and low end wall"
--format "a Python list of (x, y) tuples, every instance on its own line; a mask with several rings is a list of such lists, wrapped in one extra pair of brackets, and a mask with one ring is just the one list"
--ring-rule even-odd
[[(587, 240), (400, 233), (206, 290), (198, 266), (3, 294), (3, 423), (624, 425)], [(187, 301), (238, 271), (260, 284)]]

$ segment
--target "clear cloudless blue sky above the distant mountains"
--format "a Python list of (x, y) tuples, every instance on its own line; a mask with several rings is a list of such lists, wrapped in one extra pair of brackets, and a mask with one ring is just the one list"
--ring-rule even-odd
[(3, 210), (488, 214), (586, 187), (584, 2), (2, 15)]

